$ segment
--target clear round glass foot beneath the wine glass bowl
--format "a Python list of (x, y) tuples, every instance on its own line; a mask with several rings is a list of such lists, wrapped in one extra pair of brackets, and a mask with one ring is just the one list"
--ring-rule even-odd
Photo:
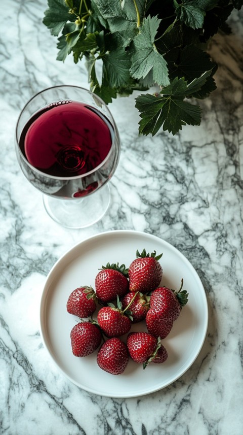
[(110, 188), (106, 184), (84, 198), (59, 199), (43, 195), (44, 207), (49, 216), (66, 228), (86, 228), (98, 222), (110, 204)]

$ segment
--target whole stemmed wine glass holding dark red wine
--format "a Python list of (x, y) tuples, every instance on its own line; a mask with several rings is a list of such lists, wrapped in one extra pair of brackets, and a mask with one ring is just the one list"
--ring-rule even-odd
[(43, 192), (52, 219), (68, 228), (84, 228), (102, 218), (120, 140), (100, 97), (71, 85), (38, 92), (20, 113), (15, 145), (20, 168)]

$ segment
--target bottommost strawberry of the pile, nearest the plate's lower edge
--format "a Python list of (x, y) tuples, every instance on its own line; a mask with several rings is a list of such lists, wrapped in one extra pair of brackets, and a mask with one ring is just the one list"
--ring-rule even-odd
[(128, 365), (126, 344), (117, 337), (108, 339), (98, 351), (97, 363), (105, 372), (120, 375)]

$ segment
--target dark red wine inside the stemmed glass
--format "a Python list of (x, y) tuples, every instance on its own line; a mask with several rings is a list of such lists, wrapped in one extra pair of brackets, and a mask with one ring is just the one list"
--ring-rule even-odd
[(112, 145), (109, 121), (77, 101), (52, 103), (25, 125), (19, 146), (39, 171), (57, 177), (86, 174), (102, 163)]

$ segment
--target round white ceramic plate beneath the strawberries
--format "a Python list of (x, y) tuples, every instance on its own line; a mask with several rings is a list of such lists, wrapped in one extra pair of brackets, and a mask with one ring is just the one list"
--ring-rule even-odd
[[(136, 258), (136, 250), (157, 254), (163, 267), (161, 284), (189, 292), (187, 305), (163, 344), (168, 359), (163, 364), (142, 364), (131, 359), (121, 375), (110, 375), (96, 363), (97, 351), (77, 358), (73, 356), (70, 331), (78, 320), (66, 311), (69, 294), (76, 287), (94, 287), (98, 269), (107, 262), (125, 263)], [(50, 271), (41, 299), (41, 335), (45, 347), (60, 371), (77, 386), (108, 397), (135, 397), (164, 388), (182, 376), (203, 346), (208, 327), (208, 305), (205, 290), (191, 263), (176, 248), (158, 237), (138, 231), (109, 231), (93, 236), (63, 255)], [(131, 330), (146, 331), (145, 322)], [(122, 339), (126, 341), (126, 336)]]

